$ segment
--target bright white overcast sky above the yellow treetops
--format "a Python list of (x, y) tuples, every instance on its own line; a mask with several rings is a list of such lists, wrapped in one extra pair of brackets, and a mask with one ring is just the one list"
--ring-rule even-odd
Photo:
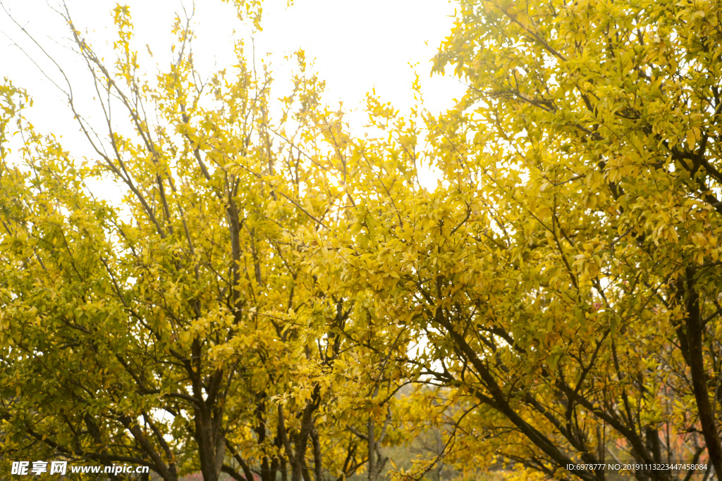
[[(68, 44), (69, 32), (51, 9), (58, 6), (57, 1), (0, 0), (0, 3), (66, 66), (77, 59), (63, 47)], [(88, 31), (96, 48), (113, 39), (110, 10), (116, 3), (67, 0), (76, 27)], [(168, 63), (170, 27), (174, 12), (181, 9), (181, 1), (125, 3), (131, 9), (138, 44), (149, 44), (155, 61)], [(192, 8), (191, 0), (183, 4), (188, 10)], [(447, 0), (295, 0), (288, 9), (285, 4), (285, 0), (266, 1), (264, 31), (256, 37), (256, 53), (271, 53), (271, 62), (280, 67), (285, 54), (303, 48), (306, 58), (316, 59), (316, 69), (326, 80), (327, 100), (343, 100), (345, 108), (357, 108), (366, 92), (375, 87), (383, 100), (402, 109), (409, 107), (412, 102), (409, 87), (414, 79), (409, 63), (418, 64), (415, 68), (422, 79), (428, 110), (451, 107), (453, 98), (462, 94), (463, 86), (453, 77), (429, 78), (430, 58), (451, 30), (454, 7)], [(197, 35), (194, 59), (206, 74), (232, 62), (234, 35), (246, 38), (249, 35), (236, 19), (235, 9), (219, 0), (196, 1), (193, 28)], [(31, 118), (41, 131), (53, 131), (66, 141), (73, 138), (71, 132), (77, 128), (64, 107), (66, 101), (13, 41), (28, 48), (35, 58), (41, 56), (1, 11), (0, 32), (5, 34), (0, 35), (0, 76), (25, 87), (35, 98)], [(82, 71), (82, 65), (74, 65), (71, 73)], [(280, 97), (286, 92), (277, 88), (275, 94)], [(362, 118), (356, 115), (352, 122)]]

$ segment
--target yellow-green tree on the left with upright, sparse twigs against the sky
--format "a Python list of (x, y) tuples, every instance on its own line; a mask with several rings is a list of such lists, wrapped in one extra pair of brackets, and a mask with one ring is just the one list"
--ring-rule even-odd
[[(237, 7), (260, 28), (258, 2)], [(352, 431), (384, 416), (389, 431), (389, 402), (358, 400), (370, 373), (347, 367), (349, 307), (303, 268), (308, 246), (294, 237), (325, 229), (336, 195), (296, 146), (331, 115), (322, 82), (298, 53), (275, 120), (271, 71), (249, 65), (242, 43), (233, 69), (201, 79), (192, 14), (176, 19), (177, 56), (155, 79), (126, 6), (113, 10), (113, 67), (61, 14), (102, 122), (79, 111), (58, 66), (94, 151), (75, 159), (22, 117), (25, 92), (1, 91), (1, 456), (130, 462), (168, 481), (356, 472), (367, 456)], [(123, 205), (95, 195), (98, 181)]]

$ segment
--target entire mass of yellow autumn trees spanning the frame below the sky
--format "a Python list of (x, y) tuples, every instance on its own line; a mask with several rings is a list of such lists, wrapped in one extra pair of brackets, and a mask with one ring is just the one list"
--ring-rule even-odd
[[(369, 95), (362, 135), (301, 52), (276, 112), (243, 43), (203, 81), (178, 17), (149, 79), (127, 7), (112, 65), (65, 10), (104, 118), (63, 87), (79, 159), (0, 90), (0, 456), (167, 481), (719, 477), (721, 10), (460, 0), (434, 69), (464, 97)], [(435, 456), (397, 466), (427, 430)]]

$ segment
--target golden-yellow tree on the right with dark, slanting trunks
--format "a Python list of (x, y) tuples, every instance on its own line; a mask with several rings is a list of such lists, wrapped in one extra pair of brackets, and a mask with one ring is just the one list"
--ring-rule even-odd
[(388, 137), (349, 146), (347, 222), (314, 262), (461, 403), (449, 458), (722, 472), (720, 9), (461, 1), (435, 58), (469, 85), (458, 107), (418, 128), (370, 105)]

